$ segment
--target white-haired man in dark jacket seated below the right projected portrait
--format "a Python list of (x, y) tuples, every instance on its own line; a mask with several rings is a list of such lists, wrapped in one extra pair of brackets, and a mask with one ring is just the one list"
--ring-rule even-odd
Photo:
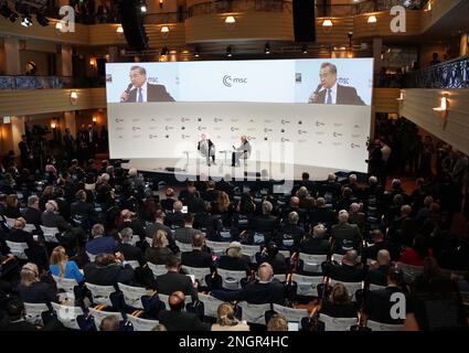
[(339, 212), (339, 223), (331, 228), (333, 252), (345, 254), (347, 250), (360, 249), (362, 234), (356, 224), (349, 223), (349, 213), (345, 210)]

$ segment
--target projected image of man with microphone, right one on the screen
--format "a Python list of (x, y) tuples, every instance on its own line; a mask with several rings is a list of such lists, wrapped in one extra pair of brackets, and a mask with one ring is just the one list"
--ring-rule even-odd
[(343, 104), (364, 106), (354, 87), (347, 87), (337, 83), (337, 66), (331, 63), (323, 63), (319, 74), (321, 84), (309, 97), (308, 103), (312, 104)]

